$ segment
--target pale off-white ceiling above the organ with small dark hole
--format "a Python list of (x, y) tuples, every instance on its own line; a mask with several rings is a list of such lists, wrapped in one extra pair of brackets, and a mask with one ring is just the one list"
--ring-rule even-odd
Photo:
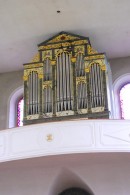
[(108, 58), (130, 56), (130, 1), (1, 0), (0, 73), (22, 70), (60, 31), (89, 37)]

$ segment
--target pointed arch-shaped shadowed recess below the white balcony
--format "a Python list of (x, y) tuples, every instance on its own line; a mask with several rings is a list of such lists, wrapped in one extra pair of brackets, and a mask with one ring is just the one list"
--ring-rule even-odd
[[(68, 191), (69, 190), (69, 191)], [(73, 190), (73, 192), (72, 192)], [(62, 169), (50, 186), (49, 195), (74, 195), (80, 190), (79, 195), (94, 195), (88, 185), (75, 173)]]

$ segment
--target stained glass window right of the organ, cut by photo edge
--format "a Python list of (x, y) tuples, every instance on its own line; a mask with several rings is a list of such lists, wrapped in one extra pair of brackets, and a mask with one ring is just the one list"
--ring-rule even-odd
[(130, 83), (120, 90), (121, 118), (130, 119)]

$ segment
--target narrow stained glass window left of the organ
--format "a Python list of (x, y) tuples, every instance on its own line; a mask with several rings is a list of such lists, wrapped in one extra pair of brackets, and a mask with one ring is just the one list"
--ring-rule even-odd
[(20, 98), (17, 104), (17, 126), (21, 127), (23, 126), (23, 97)]

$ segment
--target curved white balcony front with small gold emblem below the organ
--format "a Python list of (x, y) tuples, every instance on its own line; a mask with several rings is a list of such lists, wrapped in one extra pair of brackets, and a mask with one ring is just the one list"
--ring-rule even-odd
[(48, 155), (129, 151), (129, 120), (73, 120), (0, 131), (0, 162)]

